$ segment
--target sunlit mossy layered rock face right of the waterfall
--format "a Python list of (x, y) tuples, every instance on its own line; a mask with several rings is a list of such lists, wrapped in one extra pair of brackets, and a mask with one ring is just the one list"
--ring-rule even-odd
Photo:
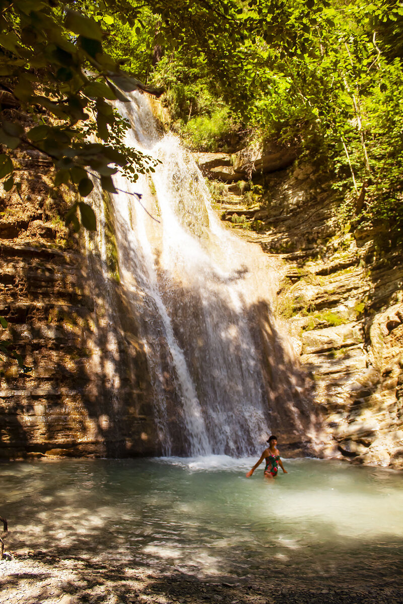
[(339, 204), (311, 165), (278, 171), (263, 151), (247, 183), (234, 165), (227, 178), (238, 158), (222, 155), (199, 154), (199, 164), (222, 219), (283, 262), (277, 313), (311, 381), (319, 451), (403, 467), (401, 254), (381, 229), (342, 232)]

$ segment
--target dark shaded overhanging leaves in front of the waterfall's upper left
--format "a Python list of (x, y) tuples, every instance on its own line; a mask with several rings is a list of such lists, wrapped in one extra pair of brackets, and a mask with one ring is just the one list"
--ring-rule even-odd
[[(111, 176), (118, 169), (133, 178), (136, 172), (153, 170), (149, 158), (124, 146), (124, 129), (107, 102), (126, 102), (127, 92), (145, 88), (103, 51), (114, 14), (123, 24), (135, 24), (132, 5), (126, 0), (0, 0), (0, 9), (0, 179), (5, 190), (15, 186), (10, 151), (19, 146), (44, 153), (57, 170), (55, 186), (68, 184), (82, 197), (91, 193), (89, 176), (111, 191)], [(34, 126), (11, 120), (10, 107), (31, 114)], [(100, 143), (85, 136), (94, 118)], [(79, 216), (83, 226), (94, 228), (95, 215), (86, 202), (69, 212), (74, 227)]]

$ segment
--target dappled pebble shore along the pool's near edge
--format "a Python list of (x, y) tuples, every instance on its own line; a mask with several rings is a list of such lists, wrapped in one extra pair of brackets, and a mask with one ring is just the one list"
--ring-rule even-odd
[(201, 578), (142, 567), (21, 551), (0, 561), (2, 604), (401, 604), (401, 577), (310, 584), (246, 576)]

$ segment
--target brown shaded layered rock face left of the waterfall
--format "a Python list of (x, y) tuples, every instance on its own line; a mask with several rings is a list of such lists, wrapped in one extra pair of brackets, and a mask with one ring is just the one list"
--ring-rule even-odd
[(86, 254), (86, 235), (63, 226), (69, 191), (54, 197), (47, 163), (35, 153), (18, 162), (21, 197), (5, 195), (0, 208), (1, 338), (32, 370), (2, 365), (0, 457), (158, 454), (146, 356), (124, 289)]

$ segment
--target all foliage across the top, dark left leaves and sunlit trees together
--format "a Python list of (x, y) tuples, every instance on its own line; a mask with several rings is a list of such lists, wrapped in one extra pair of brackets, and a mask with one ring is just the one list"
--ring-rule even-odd
[[(152, 170), (147, 158), (124, 146), (127, 124), (108, 101), (125, 101), (138, 88), (160, 94), (164, 87), (172, 126), (193, 146), (228, 146), (239, 140), (234, 130), (244, 140), (295, 146), (320, 159), (343, 191), (346, 220), (359, 216), (401, 239), (402, 2), (0, 5), (5, 191), (18, 186), (8, 150), (21, 145), (50, 157), (55, 185), (73, 185), (82, 196), (94, 174), (114, 190), (111, 163), (134, 179)], [(27, 109), (32, 123), (18, 123), (15, 108)], [(88, 141), (88, 133), (100, 143)], [(67, 218), (75, 228), (79, 218), (95, 227), (84, 202)]]

